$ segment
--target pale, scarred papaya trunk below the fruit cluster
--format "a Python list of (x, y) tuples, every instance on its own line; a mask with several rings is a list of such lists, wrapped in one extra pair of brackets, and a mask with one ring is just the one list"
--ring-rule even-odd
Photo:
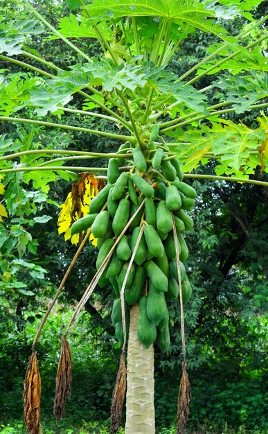
[(154, 434), (154, 347), (137, 336), (139, 304), (130, 311), (127, 349), (127, 418), (125, 434)]

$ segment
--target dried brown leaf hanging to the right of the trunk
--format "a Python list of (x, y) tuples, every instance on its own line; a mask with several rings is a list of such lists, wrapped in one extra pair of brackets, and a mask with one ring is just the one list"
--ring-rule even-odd
[(179, 386), (177, 434), (184, 434), (184, 427), (189, 417), (190, 381), (188, 379), (186, 362), (182, 363), (181, 385)]

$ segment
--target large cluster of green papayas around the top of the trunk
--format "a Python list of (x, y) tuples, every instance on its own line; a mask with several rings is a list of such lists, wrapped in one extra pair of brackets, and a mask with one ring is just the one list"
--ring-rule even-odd
[[(128, 144), (121, 146), (119, 153)], [(170, 345), (169, 314), (166, 302), (179, 296), (179, 277), (173, 217), (177, 230), (182, 295), (187, 303), (192, 288), (184, 263), (188, 248), (183, 232), (193, 227), (193, 219), (186, 211), (193, 207), (195, 189), (184, 183), (178, 159), (168, 159), (168, 148), (152, 142), (145, 150), (136, 147), (129, 150), (129, 159), (109, 159), (107, 185), (91, 200), (89, 215), (72, 226), (75, 234), (91, 227), (97, 238), (100, 268), (118, 236), (134, 216), (144, 200), (144, 206), (120, 238), (107, 263), (98, 284), (111, 284), (116, 300), (111, 313), (118, 342), (123, 344), (123, 324), (120, 290), (123, 286), (129, 260), (137, 238), (144, 227), (125, 285), (126, 325), (129, 324), (129, 306), (139, 303), (138, 336), (145, 347), (154, 341), (161, 351)], [(144, 225), (144, 226), (143, 226)]]

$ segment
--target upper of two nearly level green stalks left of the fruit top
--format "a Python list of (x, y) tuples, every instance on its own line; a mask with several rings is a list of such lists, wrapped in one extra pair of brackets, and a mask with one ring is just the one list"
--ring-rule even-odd
[(0, 157), (0, 161), (6, 161), (7, 159), (19, 158), (23, 155), (33, 155), (33, 154), (65, 154), (65, 155), (87, 155), (92, 158), (127, 158), (128, 154), (118, 154), (118, 153), (88, 153), (83, 150), (61, 150), (61, 149), (33, 149), (33, 150), (23, 150), (20, 153), (4, 155)]

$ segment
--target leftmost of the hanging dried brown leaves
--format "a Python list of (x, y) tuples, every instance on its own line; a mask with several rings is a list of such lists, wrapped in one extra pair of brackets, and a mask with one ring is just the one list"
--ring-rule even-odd
[(37, 354), (33, 351), (24, 380), (24, 422), (28, 434), (41, 434), (40, 424), (41, 377), (38, 370)]

